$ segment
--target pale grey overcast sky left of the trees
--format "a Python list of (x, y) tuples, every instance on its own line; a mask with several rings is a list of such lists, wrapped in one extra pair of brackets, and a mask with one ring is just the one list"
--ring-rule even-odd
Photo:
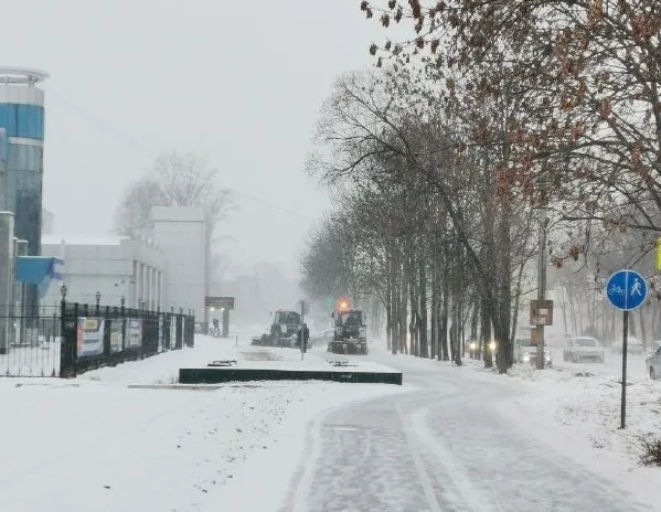
[(0, 64), (51, 75), (44, 206), (58, 234), (110, 233), (159, 151), (194, 151), (236, 191), (222, 234), (239, 268), (298, 271), (329, 205), (303, 173), (319, 107), (383, 35), (356, 0), (0, 0)]

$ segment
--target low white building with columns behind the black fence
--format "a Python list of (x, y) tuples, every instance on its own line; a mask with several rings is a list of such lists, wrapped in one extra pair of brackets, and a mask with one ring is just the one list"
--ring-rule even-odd
[[(124, 297), (127, 308), (164, 308), (166, 257), (151, 241), (43, 235), (42, 255), (64, 259), (67, 301), (94, 305), (98, 291), (103, 306), (119, 307)], [(60, 288), (52, 286), (43, 303), (60, 300)]]

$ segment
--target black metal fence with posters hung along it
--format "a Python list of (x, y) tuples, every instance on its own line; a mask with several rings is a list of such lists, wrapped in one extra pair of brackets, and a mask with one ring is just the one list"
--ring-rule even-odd
[[(8, 308), (6, 308), (8, 309)], [(62, 301), (0, 310), (0, 376), (73, 377), (194, 344), (193, 314)]]

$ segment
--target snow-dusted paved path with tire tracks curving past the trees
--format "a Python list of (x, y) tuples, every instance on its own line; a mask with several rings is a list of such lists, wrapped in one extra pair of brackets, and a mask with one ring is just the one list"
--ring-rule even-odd
[(511, 380), (409, 358), (372, 355), (415, 393), (376, 398), (316, 422), (282, 512), (657, 510), (626, 486), (531, 435), (501, 404)]

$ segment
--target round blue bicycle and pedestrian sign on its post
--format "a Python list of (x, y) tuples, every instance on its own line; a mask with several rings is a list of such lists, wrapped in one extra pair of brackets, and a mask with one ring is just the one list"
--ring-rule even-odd
[(606, 297), (610, 305), (622, 311), (622, 394), (620, 403), (620, 428), (627, 420), (627, 351), (629, 338), (629, 311), (643, 305), (648, 296), (644, 278), (633, 270), (618, 270), (606, 281)]

